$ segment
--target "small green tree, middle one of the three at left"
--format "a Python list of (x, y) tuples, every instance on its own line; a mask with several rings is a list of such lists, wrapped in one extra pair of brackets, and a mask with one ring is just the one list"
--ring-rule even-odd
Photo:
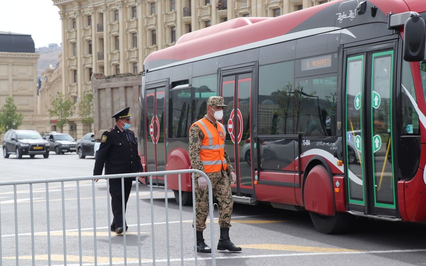
[(71, 107), (73, 104), (62, 92), (58, 92), (51, 101), (52, 108), (49, 108), (48, 111), (51, 118), (55, 116), (56, 126), (60, 128), (61, 133), (63, 132), (64, 125), (68, 123), (68, 117), (72, 114)]

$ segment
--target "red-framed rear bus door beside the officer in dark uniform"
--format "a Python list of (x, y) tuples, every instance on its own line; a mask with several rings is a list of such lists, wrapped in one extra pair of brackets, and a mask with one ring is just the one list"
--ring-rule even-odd
[[(166, 165), (166, 146), (164, 140), (164, 106), (166, 82), (146, 87), (145, 111), (146, 119), (145, 157), (147, 172), (164, 171)], [(163, 177), (154, 177), (153, 185), (164, 184)]]

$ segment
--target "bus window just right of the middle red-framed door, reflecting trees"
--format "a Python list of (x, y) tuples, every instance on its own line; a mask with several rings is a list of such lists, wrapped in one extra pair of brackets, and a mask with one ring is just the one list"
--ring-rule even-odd
[(293, 61), (259, 67), (259, 135), (294, 134), (293, 76)]

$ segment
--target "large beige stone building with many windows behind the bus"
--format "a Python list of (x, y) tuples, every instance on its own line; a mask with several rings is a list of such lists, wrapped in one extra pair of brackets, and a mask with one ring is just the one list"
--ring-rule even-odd
[[(91, 90), (92, 73), (100, 72), (108, 76), (141, 72), (147, 55), (174, 45), (185, 33), (238, 17), (276, 17), (321, 5), (329, 0), (52, 0), (52, 2), (59, 8), (62, 20), (60, 61), (62, 67), (58, 72), (55, 70), (52, 73), (55, 76), (53, 79), (44, 81), (42, 76), (42, 90), (48, 86), (47, 83), (55, 82), (50, 89), (62, 91), (77, 106), (82, 95)], [(57, 78), (62, 79), (62, 82), (58, 82)], [(43, 95), (49, 94), (52, 95), (50, 92)], [(89, 128), (81, 123), (78, 108), (74, 110), (69, 128), (70, 134), (75, 138), (82, 137)]]

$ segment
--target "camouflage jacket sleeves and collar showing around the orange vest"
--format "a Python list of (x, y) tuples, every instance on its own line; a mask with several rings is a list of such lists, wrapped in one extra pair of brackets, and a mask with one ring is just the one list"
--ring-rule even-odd
[[(207, 118), (207, 116), (204, 116), (208, 121), (210, 121), (210, 119)], [(217, 127), (217, 123), (214, 123), (212, 121), (210, 121), (215, 127)], [(191, 160), (191, 166), (192, 169), (196, 169), (196, 170), (200, 170), (202, 172), (204, 172), (204, 167), (202, 166), (201, 163), (201, 158), (199, 157), (199, 151), (201, 149), (201, 142), (202, 139), (204, 139), (204, 134), (201, 131), (201, 129), (199, 128), (198, 125), (196, 124), (192, 124), (191, 129), (189, 129), (189, 160)], [(231, 165), (231, 161), (229, 159), (227, 150), (225, 148), (225, 160), (227, 160), (227, 170), (226, 170), (226, 174), (227, 176), (231, 173), (234, 172), (234, 168)], [(209, 176), (209, 174), (212, 173), (206, 173), (207, 176)], [(195, 178), (198, 177), (197, 175), (195, 175)]]

